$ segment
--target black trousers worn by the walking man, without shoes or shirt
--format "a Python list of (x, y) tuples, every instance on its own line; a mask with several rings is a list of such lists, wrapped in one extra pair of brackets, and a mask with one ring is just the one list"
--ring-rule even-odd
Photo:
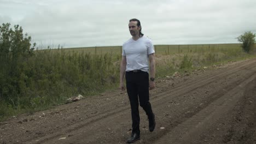
[(126, 88), (131, 105), (132, 133), (140, 133), (139, 109), (140, 105), (148, 118), (153, 117), (151, 104), (149, 103), (149, 74), (144, 71), (126, 71)]

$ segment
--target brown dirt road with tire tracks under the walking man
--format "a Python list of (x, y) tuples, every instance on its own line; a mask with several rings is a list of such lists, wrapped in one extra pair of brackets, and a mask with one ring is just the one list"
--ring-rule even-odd
[[(256, 59), (159, 80), (150, 91), (156, 129), (141, 112), (136, 143), (256, 143)], [(125, 143), (126, 92), (112, 91), (0, 123), (0, 143)]]

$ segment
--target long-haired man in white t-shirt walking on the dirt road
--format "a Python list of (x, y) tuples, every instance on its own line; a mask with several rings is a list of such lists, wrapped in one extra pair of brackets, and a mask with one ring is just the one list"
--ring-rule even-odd
[(149, 89), (155, 88), (155, 51), (152, 41), (143, 36), (141, 29), (139, 20), (130, 20), (129, 31), (132, 38), (123, 44), (120, 65), (120, 89), (123, 91), (125, 89), (125, 76), (132, 116), (132, 134), (126, 141), (127, 143), (140, 139), (138, 105), (143, 108), (148, 116), (149, 131), (152, 132), (155, 129), (155, 115), (149, 103)]

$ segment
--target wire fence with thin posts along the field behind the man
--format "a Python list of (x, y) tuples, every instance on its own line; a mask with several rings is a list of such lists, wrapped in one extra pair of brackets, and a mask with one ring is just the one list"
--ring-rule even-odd
[[(254, 45), (254, 48), (256, 45)], [(230, 52), (242, 51), (241, 44), (194, 44), (194, 45), (154, 45), (156, 55), (173, 55), (184, 53)], [(95, 46), (55, 49), (66, 52), (84, 52), (94, 55), (112, 53), (121, 55), (122, 46)]]

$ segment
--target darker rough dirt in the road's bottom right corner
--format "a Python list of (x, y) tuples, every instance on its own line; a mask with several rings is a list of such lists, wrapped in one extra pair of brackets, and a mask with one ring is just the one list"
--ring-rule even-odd
[(201, 134), (200, 143), (256, 143), (256, 79), (248, 83), (243, 97), (229, 113)]

